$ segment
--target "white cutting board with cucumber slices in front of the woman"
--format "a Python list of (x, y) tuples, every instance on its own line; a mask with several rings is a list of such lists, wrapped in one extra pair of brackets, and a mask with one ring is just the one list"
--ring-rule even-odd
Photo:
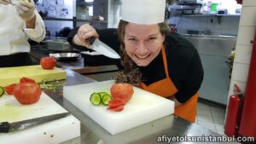
[(110, 94), (113, 81), (96, 82), (66, 86), (63, 89), (64, 98), (75, 107), (100, 124), (112, 135), (130, 130), (141, 124), (146, 124), (174, 112), (174, 102), (154, 95), (143, 89), (133, 87), (134, 94), (121, 112), (109, 111), (104, 106), (93, 106), (90, 95), (94, 92), (105, 91)]

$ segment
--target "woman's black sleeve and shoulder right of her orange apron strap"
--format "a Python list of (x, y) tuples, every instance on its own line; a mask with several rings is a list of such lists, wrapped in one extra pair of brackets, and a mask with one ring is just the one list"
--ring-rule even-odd
[(175, 97), (184, 103), (200, 89), (204, 72), (201, 58), (194, 45), (174, 34), (166, 37), (169, 75), (177, 88)]

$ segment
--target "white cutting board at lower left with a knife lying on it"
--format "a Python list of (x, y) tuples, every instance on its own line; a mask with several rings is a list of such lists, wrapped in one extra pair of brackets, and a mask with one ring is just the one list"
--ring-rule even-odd
[[(13, 95), (0, 97), (0, 122), (17, 122), (51, 114), (67, 112), (63, 107), (42, 93), (32, 105), (20, 105)], [(10, 133), (0, 133), (1, 144), (54, 144), (80, 136), (80, 122), (73, 115), (34, 127)]]

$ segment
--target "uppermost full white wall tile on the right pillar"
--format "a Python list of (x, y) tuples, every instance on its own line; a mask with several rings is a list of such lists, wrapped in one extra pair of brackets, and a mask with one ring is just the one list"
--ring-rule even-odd
[(242, 8), (240, 26), (256, 26), (256, 7)]

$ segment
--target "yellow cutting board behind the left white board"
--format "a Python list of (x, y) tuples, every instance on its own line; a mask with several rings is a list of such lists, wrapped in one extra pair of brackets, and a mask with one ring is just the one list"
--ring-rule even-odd
[(51, 70), (44, 70), (40, 65), (16, 66), (0, 68), (0, 86), (20, 83), (20, 78), (27, 77), (34, 79), (37, 83), (66, 79), (66, 71), (55, 67)]

